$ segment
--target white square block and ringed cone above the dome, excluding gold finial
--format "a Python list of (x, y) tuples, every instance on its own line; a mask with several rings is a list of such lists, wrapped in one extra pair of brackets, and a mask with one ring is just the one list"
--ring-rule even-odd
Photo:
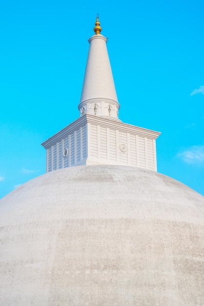
[(106, 47), (107, 38), (95, 34), (89, 43), (78, 106), (80, 118), (42, 144), (47, 150), (46, 171), (97, 164), (157, 171), (156, 139), (160, 133), (118, 119), (120, 105)]

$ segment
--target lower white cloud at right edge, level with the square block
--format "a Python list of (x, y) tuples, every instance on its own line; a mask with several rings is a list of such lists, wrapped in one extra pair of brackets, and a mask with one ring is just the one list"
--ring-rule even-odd
[(202, 164), (204, 163), (204, 146), (192, 146), (178, 156), (188, 164)]

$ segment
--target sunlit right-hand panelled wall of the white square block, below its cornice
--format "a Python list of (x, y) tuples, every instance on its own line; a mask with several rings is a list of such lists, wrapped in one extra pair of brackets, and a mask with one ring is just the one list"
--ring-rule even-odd
[(88, 125), (88, 131), (87, 164), (128, 165), (157, 171), (155, 139), (93, 123)]

